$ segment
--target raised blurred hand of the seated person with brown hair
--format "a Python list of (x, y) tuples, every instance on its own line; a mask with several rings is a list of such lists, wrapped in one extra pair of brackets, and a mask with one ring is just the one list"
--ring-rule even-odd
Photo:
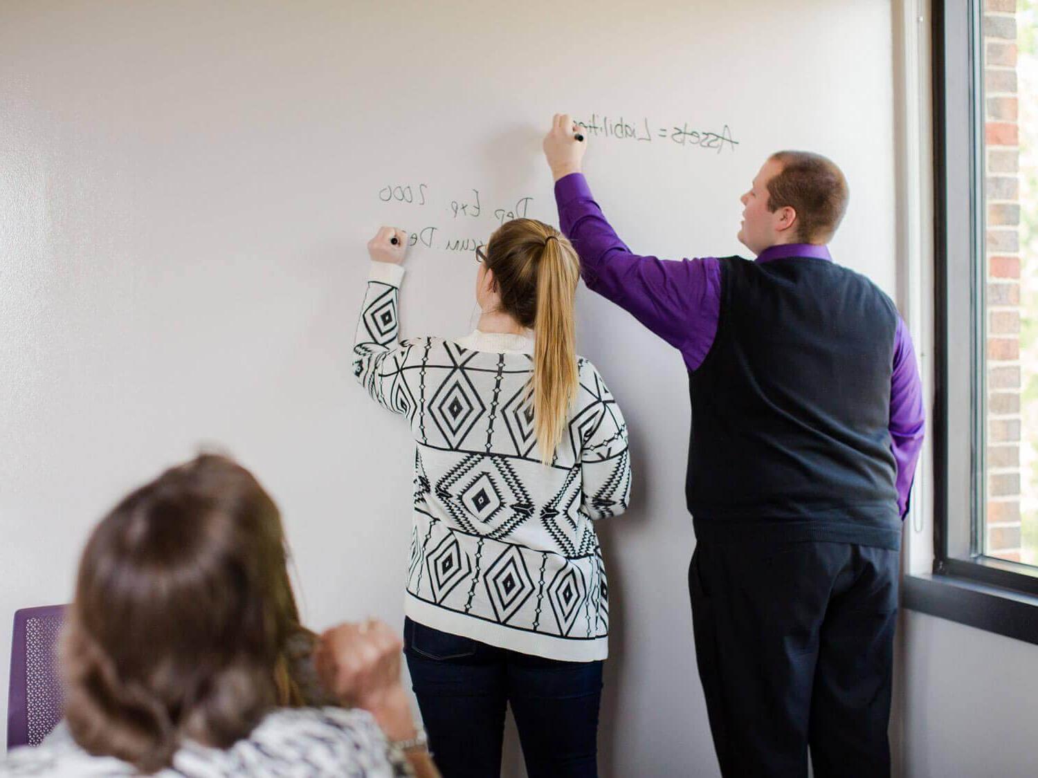
[[(387, 244), (388, 241), (387, 233)], [(400, 677), (403, 647), (388, 624), (368, 619), (328, 630), (313, 652), (325, 687), (344, 705), (370, 711), (386, 737), (393, 741), (409, 740), (416, 731)]]

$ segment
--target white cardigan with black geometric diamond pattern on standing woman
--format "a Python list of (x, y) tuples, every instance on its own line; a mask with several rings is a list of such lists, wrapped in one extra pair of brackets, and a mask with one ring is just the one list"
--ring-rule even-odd
[(398, 342), (400, 266), (372, 262), (357, 381), (415, 441), (405, 611), (415, 621), (548, 659), (608, 651), (608, 586), (594, 520), (627, 508), (627, 426), (595, 366), (550, 466), (526, 391), (532, 340), (481, 333)]

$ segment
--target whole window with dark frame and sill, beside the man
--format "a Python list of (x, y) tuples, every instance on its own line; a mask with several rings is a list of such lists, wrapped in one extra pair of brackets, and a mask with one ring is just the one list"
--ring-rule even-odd
[(1038, 643), (1038, 0), (933, 8), (935, 560), (905, 604)]

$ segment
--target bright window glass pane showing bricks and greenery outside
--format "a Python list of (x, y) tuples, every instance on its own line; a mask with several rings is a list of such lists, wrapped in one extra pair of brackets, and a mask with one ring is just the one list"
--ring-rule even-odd
[(1038, 565), (1038, 20), (986, 3), (984, 525), (980, 551)]

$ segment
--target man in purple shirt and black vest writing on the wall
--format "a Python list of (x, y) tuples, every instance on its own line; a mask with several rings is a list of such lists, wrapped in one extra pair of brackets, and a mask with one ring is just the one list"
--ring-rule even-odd
[(756, 255), (633, 254), (556, 114), (544, 139), (559, 226), (588, 287), (681, 352), (695, 654), (721, 773), (886, 776), (901, 520), (923, 441), (894, 303), (832, 261), (847, 205), (829, 160), (769, 158), (742, 195)]

